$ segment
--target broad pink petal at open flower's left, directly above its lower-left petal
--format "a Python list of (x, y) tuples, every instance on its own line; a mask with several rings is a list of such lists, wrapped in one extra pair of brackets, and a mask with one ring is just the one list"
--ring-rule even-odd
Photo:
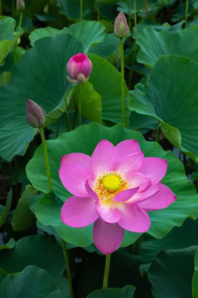
[(88, 197), (85, 189), (85, 181), (90, 175), (90, 170), (78, 163), (63, 165), (59, 171), (59, 177), (64, 187), (77, 197)]

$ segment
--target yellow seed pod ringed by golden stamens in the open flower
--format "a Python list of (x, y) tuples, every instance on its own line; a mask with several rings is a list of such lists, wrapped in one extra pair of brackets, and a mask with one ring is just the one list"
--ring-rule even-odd
[(99, 200), (112, 200), (119, 192), (129, 189), (129, 181), (121, 174), (111, 171), (99, 175), (94, 184), (94, 191)]

